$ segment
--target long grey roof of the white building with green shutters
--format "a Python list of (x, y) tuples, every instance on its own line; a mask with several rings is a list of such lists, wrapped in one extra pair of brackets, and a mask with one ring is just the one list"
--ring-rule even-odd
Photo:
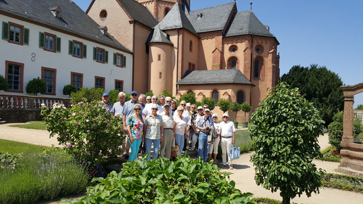
[[(61, 8), (61, 18), (52, 14), (52, 9)], [(6, 0), (0, 1), (0, 12), (13, 14), (23, 19), (48, 25), (64, 32), (77, 34), (99, 43), (105, 43), (126, 52), (120, 42), (110, 34), (104, 35), (98, 25), (78, 5), (69, 0)]]

